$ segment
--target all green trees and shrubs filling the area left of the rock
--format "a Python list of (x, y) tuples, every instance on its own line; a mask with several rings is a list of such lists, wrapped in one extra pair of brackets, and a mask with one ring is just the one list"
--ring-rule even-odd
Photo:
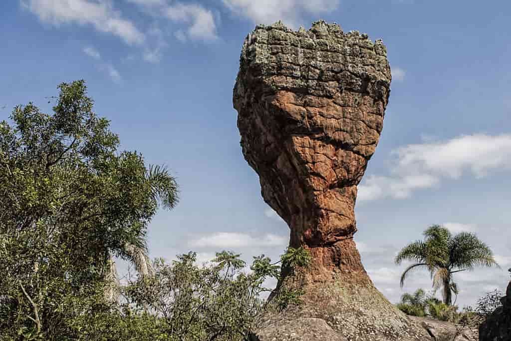
[[(307, 266), (302, 248), (250, 270), (229, 252), (152, 263), (147, 228), (176, 205), (176, 179), (118, 150), (84, 81), (58, 89), (51, 115), (29, 103), (0, 122), (0, 339), (242, 340), (263, 309), (299, 303), (261, 295), (282, 264)], [(115, 257), (137, 270), (123, 285)]]

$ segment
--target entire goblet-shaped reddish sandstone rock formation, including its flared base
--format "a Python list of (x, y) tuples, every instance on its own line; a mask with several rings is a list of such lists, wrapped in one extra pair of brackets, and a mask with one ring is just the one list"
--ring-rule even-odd
[(234, 89), (243, 154), (288, 223), (290, 246), (313, 256), (278, 284), (303, 289), (305, 305), (265, 316), (261, 339), (285, 339), (265, 337), (299, 319), (323, 320), (339, 340), (429, 339), (374, 287), (353, 240), (357, 185), (378, 144), (390, 80), (382, 41), (336, 24), (295, 32), (279, 22), (245, 40)]

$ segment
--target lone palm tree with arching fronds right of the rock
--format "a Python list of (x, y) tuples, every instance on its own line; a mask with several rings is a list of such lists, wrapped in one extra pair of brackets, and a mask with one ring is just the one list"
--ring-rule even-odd
[(475, 266), (499, 266), (493, 252), (475, 234), (460, 232), (453, 236), (440, 225), (432, 225), (424, 232), (424, 240), (403, 247), (396, 256), (396, 264), (413, 261), (401, 275), (401, 287), (412, 270), (426, 268), (435, 290), (443, 289), (444, 303), (452, 304), (452, 293), (458, 292), (453, 274), (473, 270)]

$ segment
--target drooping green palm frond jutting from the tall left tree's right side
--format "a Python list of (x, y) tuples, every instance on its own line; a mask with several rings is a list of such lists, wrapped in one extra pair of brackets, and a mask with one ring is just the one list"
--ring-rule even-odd
[(166, 209), (172, 209), (179, 201), (176, 178), (164, 166), (150, 165), (146, 178), (151, 186), (153, 200)]

